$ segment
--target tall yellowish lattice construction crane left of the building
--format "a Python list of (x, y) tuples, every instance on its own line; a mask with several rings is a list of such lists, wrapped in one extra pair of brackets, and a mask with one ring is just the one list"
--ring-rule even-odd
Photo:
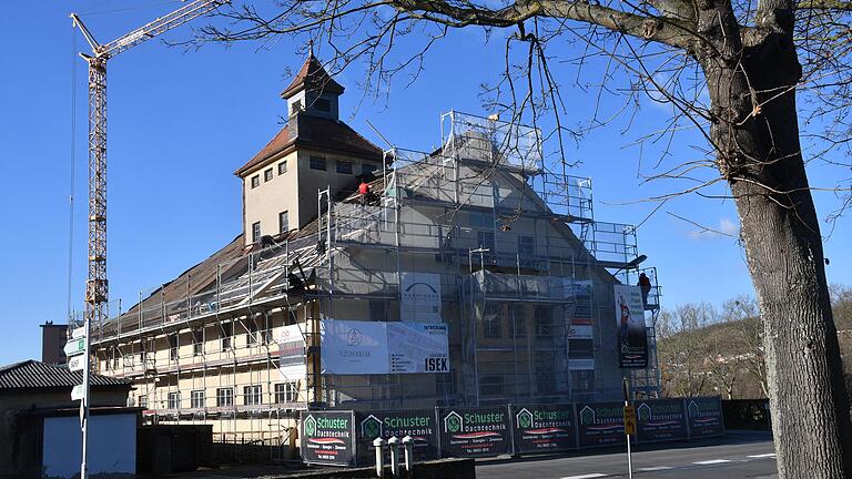
[(83, 397), (80, 402), (80, 428), (83, 436), (80, 477), (87, 479), (89, 470), (89, 364), (92, 324), (106, 319), (109, 287), (106, 283), (106, 61), (190, 20), (204, 16), (230, 0), (195, 0), (158, 18), (109, 43), (98, 43), (77, 13), (71, 13), (73, 27), (80, 28), (92, 54), (80, 53), (89, 63), (89, 276), (85, 282), (85, 364)]

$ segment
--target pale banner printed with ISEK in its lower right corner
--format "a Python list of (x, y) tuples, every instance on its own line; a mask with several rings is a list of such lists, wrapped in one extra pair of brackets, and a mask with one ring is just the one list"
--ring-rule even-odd
[(449, 373), (447, 325), (387, 323), (390, 373)]

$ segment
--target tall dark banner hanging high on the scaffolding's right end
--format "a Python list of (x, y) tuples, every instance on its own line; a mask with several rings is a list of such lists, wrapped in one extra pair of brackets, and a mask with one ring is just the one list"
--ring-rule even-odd
[(621, 368), (648, 367), (648, 336), (645, 307), (639, 286), (615, 285), (616, 322), (618, 325), (618, 363)]

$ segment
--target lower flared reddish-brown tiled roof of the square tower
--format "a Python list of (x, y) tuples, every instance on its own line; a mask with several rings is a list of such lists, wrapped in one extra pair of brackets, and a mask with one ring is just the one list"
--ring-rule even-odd
[[(242, 176), (280, 153), (307, 147), (320, 151), (342, 153), (361, 159), (381, 161), (383, 151), (369, 140), (339, 120), (312, 116), (298, 113), (290, 119), (296, 124), (286, 124), (281, 131), (254, 155), (246, 164), (235, 171)], [(294, 132), (296, 136), (293, 137)]]

